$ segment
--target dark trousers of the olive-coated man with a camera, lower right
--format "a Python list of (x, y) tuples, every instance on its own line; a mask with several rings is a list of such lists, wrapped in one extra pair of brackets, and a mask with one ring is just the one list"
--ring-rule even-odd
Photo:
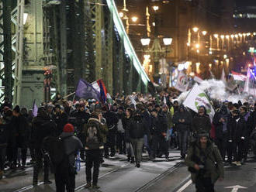
[(214, 184), (209, 177), (195, 178), (196, 192), (214, 192)]

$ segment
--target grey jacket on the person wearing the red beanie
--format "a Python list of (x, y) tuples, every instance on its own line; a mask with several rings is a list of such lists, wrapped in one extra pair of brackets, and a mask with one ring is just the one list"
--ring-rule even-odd
[(62, 132), (60, 137), (64, 139), (64, 152), (68, 156), (69, 163), (74, 165), (75, 156), (77, 156), (78, 150), (83, 148), (83, 145), (80, 139), (74, 136), (74, 132)]

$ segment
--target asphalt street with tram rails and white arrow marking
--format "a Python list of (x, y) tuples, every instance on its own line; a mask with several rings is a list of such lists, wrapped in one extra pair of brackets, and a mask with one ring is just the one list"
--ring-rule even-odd
[[(144, 156), (140, 168), (126, 161), (126, 156), (117, 155), (105, 159), (100, 168), (99, 186), (102, 192), (192, 192), (195, 187), (185, 164), (179, 159), (179, 152), (170, 154), (170, 160), (157, 158), (151, 162)], [(41, 192), (55, 191), (55, 183), (44, 185), (42, 177), (37, 187), (32, 186), (33, 168), (8, 171), (0, 180), (1, 192)], [(54, 181), (53, 175), (50, 179)], [(75, 191), (95, 191), (85, 189), (85, 163), (76, 177)], [(256, 159), (251, 156), (243, 166), (225, 166), (225, 178), (216, 183), (216, 192), (255, 192), (256, 191)]]

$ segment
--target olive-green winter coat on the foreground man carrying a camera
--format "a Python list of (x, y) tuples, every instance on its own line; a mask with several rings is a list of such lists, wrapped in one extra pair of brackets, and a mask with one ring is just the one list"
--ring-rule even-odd
[[(206, 156), (205, 161), (202, 153), (204, 153), (204, 156)], [(195, 164), (197, 164), (195, 163), (193, 155), (195, 155), (195, 159), (199, 158), (201, 162), (204, 162), (206, 172), (203, 173), (203, 177), (210, 177), (212, 183), (215, 183), (220, 177), (224, 177), (223, 159), (220, 156), (218, 147), (212, 142), (208, 141), (205, 150), (201, 149), (199, 142), (195, 142), (190, 146), (188, 155), (185, 158), (185, 164), (192, 168), (195, 166)], [(195, 183), (197, 174), (191, 173), (191, 177), (192, 182)]]

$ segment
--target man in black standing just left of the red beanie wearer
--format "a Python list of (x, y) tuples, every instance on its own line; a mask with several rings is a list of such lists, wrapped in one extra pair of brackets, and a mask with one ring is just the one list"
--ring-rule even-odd
[(52, 122), (44, 108), (39, 108), (38, 115), (33, 118), (32, 122), (32, 137), (33, 141), (35, 141), (36, 155), (36, 163), (33, 167), (33, 186), (38, 183), (38, 174), (41, 167), (43, 167), (43, 183), (52, 183), (49, 180), (49, 163), (47, 159), (43, 158), (42, 153), (43, 139), (50, 135), (57, 136), (55, 123)]

